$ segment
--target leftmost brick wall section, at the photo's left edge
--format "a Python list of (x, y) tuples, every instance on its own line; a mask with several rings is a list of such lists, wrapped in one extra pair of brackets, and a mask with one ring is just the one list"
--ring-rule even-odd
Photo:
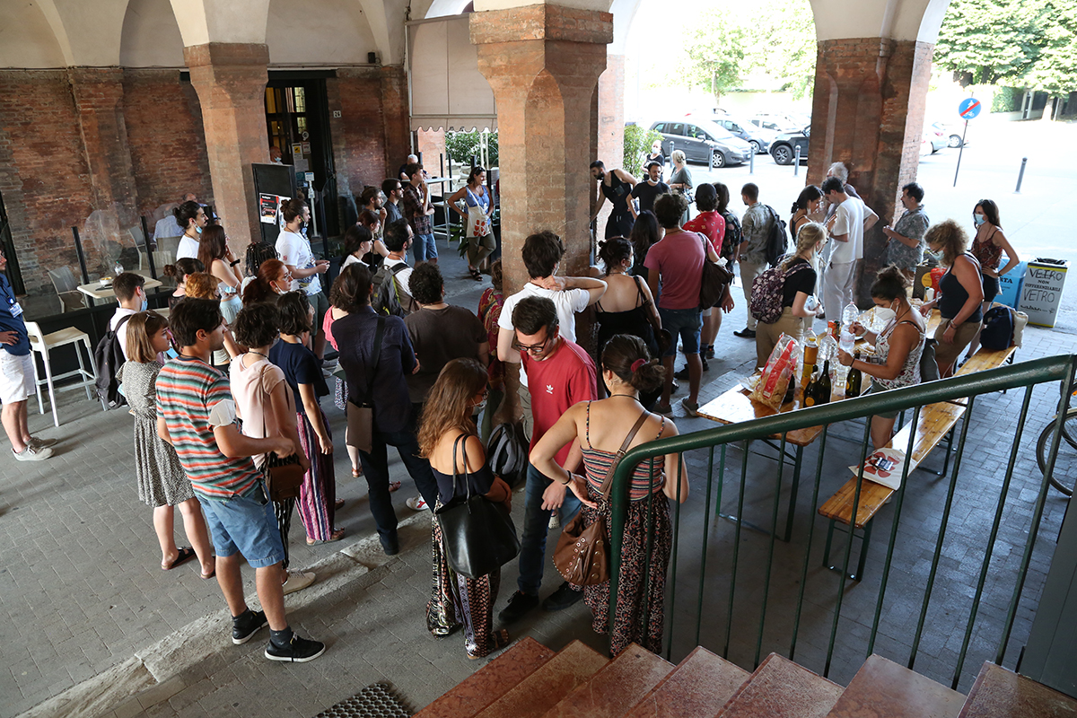
[(94, 211), (93, 187), (65, 70), (0, 72), (0, 192), (27, 292), (52, 292), (57, 266), (78, 277), (71, 226)]

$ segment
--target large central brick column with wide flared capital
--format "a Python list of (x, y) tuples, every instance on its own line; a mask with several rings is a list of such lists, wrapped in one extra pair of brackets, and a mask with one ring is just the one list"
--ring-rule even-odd
[(593, 192), (591, 101), (613, 41), (613, 15), (542, 4), (474, 13), (478, 68), (498, 102), (505, 292), (527, 282), (523, 239), (551, 229), (583, 274)]

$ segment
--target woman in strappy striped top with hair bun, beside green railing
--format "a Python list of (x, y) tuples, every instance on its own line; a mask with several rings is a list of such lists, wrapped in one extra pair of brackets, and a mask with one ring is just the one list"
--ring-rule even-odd
[[(616, 451), (632, 431), (641, 414), (646, 418), (628, 448), (659, 438), (676, 436), (673, 422), (648, 413), (640, 405), (640, 392), (652, 392), (665, 380), (666, 370), (658, 360), (652, 360), (639, 337), (617, 335), (602, 351), (602, 378), (610, 388), (610, 398), (582, 402), (570, 408), (538, 440), (531, 451), (531, 463), (544, 476), (568, 483), (584, 504), (587, 525), (599, 517), (605, 521), (606, 540), (611, 540), (613, 516), (611, 502), (601, 493), (602, 482)], [(570, 474), (554, 460), (557, 451), (570, 441), (578, 440), (583, 450), (586, 476)], [(610, 582), (583, 587), (584, 600), (591, 609), (591, 625), (596, 633), (612, 634), (611, 652), (616, 656), (630, 643), (647, 650), (662, 646), (666, 568), (672, 546), (670, 498), (682, 503), (688, 497), (688, 478), (683, 463), (677, 477), (677, 454), (667, 454), (639, 464), (632, 471), (629, 508), (625, 521), (620, 552), (620, 575), (617, 582), (614, 624), (609, 625)], [(669, 480), (667, 480), (669, 478)], [(653, 552), (647, 563), (647, 515), (653, 503)], [(644, 574), (645, 566), (648, 573)], [(579, 590), (578, 587), (573, 587)], [(644, 594), (646, 592), (646, 594)], [(643, 625), (643, 605), (651, 618)]]

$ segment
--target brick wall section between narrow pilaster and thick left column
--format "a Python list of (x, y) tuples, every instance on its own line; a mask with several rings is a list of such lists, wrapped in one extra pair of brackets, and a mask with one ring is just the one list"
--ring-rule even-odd
[(154, 211), (188, 192), (212, 203), (201, 109), (179, 70), (125, 70), (124, 114), (138, 212), (153, 231)]

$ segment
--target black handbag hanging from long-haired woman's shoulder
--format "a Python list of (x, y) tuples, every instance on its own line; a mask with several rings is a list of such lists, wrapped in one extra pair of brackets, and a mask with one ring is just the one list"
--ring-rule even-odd
[(442, 529), (442, 544), (449, 568), (466, 578), (486, 576), (515, 559), (520, 552), (513, 517), (504, 504), (493, 503), (471, 492), (467, 457), (464, 457), (464, 490), (460, 496), (457, 475), (457, 447), (452, 445), (452, 501), (435, 509)]

